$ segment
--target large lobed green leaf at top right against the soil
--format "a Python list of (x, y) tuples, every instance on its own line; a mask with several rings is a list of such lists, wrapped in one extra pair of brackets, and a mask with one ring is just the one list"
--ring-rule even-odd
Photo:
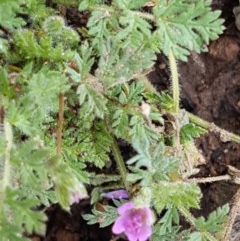
[(186, 61), (189, 51), (202, 51), (204, 44), (224, 30), (220, 13), (211, 11), (209, 1), (158, 1), (153, 14), (164, 54), (172, 50), (177, 59)]

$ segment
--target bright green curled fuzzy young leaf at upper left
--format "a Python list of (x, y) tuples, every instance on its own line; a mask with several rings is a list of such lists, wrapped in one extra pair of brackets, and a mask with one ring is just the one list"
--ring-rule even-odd
[[(55, 33), (54, 30), (58, 31)], [(19, 29), (13, 35), (13, 42), (15, 51), (10, 53), (9, 58), (58, 62), (72, 59), (74, 52), (71, 48), (76, 47), (79, 36), (75, 30), (62, 26), (60, 17), (50, 17), (45, 20), (41, 34), (31, 29)]]

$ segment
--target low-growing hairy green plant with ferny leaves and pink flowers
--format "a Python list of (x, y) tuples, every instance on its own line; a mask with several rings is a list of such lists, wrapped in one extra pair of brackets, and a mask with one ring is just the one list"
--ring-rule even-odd
[[(220, 11), (205, 0), (46, 2), (0, 1), (1, 240), (44, 234), (40, 207), (88, 197), (88, 223), (114, 223), (130, 241), (223, 238), (227, 205), (206, 219), (191, 213), (202, 195), (194, 138), (240, 138), (179, 107), (176, 64), (223, 33)], [(86, 22), (69, 26), (57, 10), (67, 6)], [(158, 53), (169, 93), (147, 78)], [(114, 205), (99, 211), (102, 198)]]

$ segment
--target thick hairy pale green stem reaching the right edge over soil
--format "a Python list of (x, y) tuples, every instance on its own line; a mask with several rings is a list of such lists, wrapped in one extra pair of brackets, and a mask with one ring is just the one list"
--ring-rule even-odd
[(220, 138), (223, 142), (234, 141), (234, 142), (240, 143), (239, 135), (228, 132), (228, 131), (216, 126), (214, 123), (209, 123), (208, 121), (205, 121), (205, 120), (201, 119), (200, 117), (195, 116), (189, 112), (188, 112), (188, 117), (192, 123), (204, 128), (204, 129), (207, 129), (208, 131), (219, 134)]

